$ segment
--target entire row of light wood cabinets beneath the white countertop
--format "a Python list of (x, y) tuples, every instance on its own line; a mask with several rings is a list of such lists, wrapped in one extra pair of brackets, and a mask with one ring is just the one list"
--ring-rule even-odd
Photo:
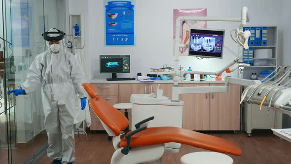
[[(132, 94), (156, 94), (158, 83), (93, 84), (98, 95), (112, 105), (130, 102)], [(161, 83), (163, 96), (172, 99), (172, 83)], [(224, 83), (181, 83), (180, 86), (223, 86)], [(229, 93), (182, 94), (184, 101), (182, 127), (190, 130), (239, 130), (240, 129), (240, 86), (230, 84)], [(121, 110), (124, 114), (124, 110)], [(129, 128), (131, 129), (131, 109)], [(95, 113), (91, 111), (91, 130), (104, 130)], [(94, 124), (94, 125), (93, 125)]]

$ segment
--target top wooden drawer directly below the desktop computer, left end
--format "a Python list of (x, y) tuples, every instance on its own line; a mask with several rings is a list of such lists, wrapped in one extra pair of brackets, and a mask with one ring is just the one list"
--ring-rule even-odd
[(118, 84), (93, 84), (99, 96), (118, 96)]

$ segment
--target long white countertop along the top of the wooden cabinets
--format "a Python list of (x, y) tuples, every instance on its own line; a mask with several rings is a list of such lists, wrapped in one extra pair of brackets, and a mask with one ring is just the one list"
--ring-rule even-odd
[[(154, 82), (140, 82), (137, 80), (132, 81), (107, 81), (105, 79), (93, 79), (89, 81), (90, 83), (174, 83), (174, 81), (154, 81)], [(215, 80), (208, 80), (208, 81), (182, 81), (179, 83), (224, 83), (224, 81), (215, 81)]]

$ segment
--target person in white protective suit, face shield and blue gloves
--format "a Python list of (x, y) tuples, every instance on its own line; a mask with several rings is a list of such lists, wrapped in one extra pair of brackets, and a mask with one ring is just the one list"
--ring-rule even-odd
[(78, 61), (64, 49), (64, 32), (50, 29), (43, 34), (49, 49), (38, 54), (31, 64), (27, 80), (8, 94), (29, 94), (42, 84), (41, 98), (45, 115), (44, 126), (48, 136), (47, 155), (51, 164), (74, 162), (74, 110), (75, 100), (86, 106), (81, 84), (86, 82)]

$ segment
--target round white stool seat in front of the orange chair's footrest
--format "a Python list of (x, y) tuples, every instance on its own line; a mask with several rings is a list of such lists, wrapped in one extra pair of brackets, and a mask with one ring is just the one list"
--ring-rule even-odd
[(222, 153), (194, 152), (183, 155), (181, 164), (233, 164), (233, 160)]

